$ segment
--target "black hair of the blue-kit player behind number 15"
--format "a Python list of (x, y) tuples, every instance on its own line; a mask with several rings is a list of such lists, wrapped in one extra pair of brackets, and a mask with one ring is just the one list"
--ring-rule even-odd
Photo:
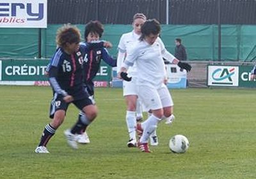
[(97, 33), (99, 34), (100, 38), (102, 37), (102, 34), (104, 32), (104, 27), (101, 24), (101, 22), (99, 22), (99, 20), (94, 20), (94, 21), (91, 20), (90, 22), (88, 22), (88, 24), (85, 25), (85, 29), (84, 29), (85, 41), (87, 41), (87, 36), (88, 34), (90, 34), (90, 32)]

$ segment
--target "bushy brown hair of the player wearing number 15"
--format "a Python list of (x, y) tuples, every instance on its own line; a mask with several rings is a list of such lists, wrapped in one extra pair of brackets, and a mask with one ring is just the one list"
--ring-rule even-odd
[(79, 29), (71, 24), (65, 24), (57, 31), (56, 43), (58, 47), (65, 48), (66, 43), (79, 43), (81, 34)]

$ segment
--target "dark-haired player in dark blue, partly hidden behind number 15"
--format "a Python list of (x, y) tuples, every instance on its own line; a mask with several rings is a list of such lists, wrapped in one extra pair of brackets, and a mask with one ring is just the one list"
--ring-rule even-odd
[[(88, 22), (84, 29), (84, 42), (80, 43), (81, 48), (87, 47), (88, 43), (93, 41), (99, 41), (103, 32), (104, 27), (98, 20)], [(116, 66), (116, 60), (108, 54), (108, 50), (106, 50), (106, 48), (93, 48), (90, 50), (90, 52), (88, 52), (88, 54), (86, 54), (86, 57), (84, 57), (84, 85), (90, 96), (90, 99), (93, 101), (93, 104), (95, 103), (93, 78), (95, 78), (97, 72), (99, 71), (101, 60), (106, 62), (109, 66)], [(84, 113), (81, 111), (78, 118), (83, 117)], [(90, 143), (88, 134), (85, 132), (85, 129), (81, 131), (81, 134), (77, 135), (76, 139), (78, 143)]]

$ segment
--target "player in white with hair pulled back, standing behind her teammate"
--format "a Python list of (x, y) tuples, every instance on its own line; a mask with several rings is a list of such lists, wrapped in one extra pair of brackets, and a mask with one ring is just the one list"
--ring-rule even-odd
[[(132, 27), (133, 31), (123, 34), (118, 44), (118, 57), (117, 57), (117, 73), (120, 75), (120, 68), (125, 60), (125, 56), (129, 54), (129, 50), (133, 47), (134, 43), (138, 41), (141, 35), (141, 25), (147, 20), (143, 13), (136, 13), (133, 17)], [(128, 147), (136, 147), (136, 118), (142, 118), (142, 108), (140, 99), (136, 92), (136, 66), (129, 69), (129, 75), (132, 76), (131, 82), (123, 83), (123, 93), (127, 105), (126, 123), (129, 132)], [(119, 76), (120, 77), (120, 76)]]

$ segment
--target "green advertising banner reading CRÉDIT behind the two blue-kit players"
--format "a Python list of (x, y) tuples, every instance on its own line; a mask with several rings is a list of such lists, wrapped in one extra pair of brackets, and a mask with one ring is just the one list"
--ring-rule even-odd
[[(8, 84), (4, 82), (10, 82), (10, 84), (13, 84), (12, 82), (15, 82), (15, 85), (41, 85), (41, 83), (38, 82), (46, 82), (48, 80), (44, 75), (47, 64), (49, 64), (49, 60), (0, 61), (0, 84)], [(110, 82), (111, 70), (111, 67), (109, 67), (105, 62), (102, 62), (100, 64), (99, 72), (94, 80), (96, 82)], [(106, 86), (105, 83), (104, 86)], [(47, 84), (42, 83), (42, 85)], [(97, 86), (103, 86), (103, 84), (97, 83)]]

